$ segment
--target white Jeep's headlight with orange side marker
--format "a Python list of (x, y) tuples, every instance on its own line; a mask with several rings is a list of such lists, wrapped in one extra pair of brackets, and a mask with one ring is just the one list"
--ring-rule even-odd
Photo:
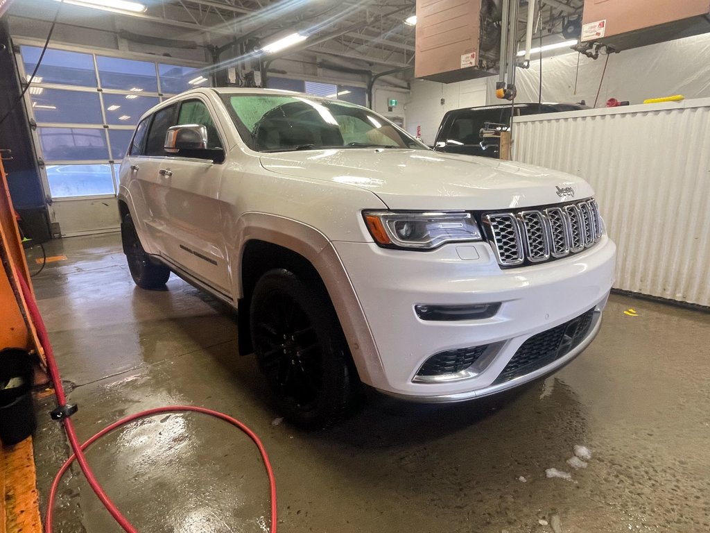
[(483, 239), (465, 211), (364, 211), (365, 223), (381, 247), (430, 250), (447, 242)]

